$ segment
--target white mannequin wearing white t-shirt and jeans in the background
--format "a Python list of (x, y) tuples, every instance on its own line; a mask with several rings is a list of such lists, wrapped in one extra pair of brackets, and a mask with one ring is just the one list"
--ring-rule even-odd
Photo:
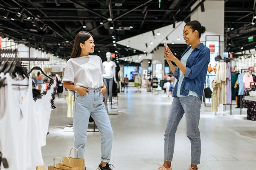
[(116, 63), (111, 61), (111, 52), (106, 53), (107, 61), (103, 62), (106, 74), (103, 75), (104, 83), (107, 86), (106, 98), (112, 101), (113, 81), (116, 81)]

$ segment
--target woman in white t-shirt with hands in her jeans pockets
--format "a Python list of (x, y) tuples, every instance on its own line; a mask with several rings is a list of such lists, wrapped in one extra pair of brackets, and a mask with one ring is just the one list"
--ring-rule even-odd
[(76, 35), (73, 51), (64, 72), (64, 87), (76, 91), (73, 107), (74, 147), (79, 150), (79, 158), (84, 158), (87, 127), (90, 115), (102, 136), (101, 164), (97, 170), (111, 170), (109, 164), (113, 141), (113, 131), (103, 102), (107, 90), (103, 82), (105, 69), (99, 56), (94, 52), (93, 37), (88, 32)]

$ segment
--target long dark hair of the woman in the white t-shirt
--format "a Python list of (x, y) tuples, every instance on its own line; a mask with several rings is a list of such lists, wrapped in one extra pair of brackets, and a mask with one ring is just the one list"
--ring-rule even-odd
[(87, 41), (92, 35), (86, 31), (80, 31), (74, 40), (73, 50), (70, 58), (78, 58), (81, 55), (80, 43)]

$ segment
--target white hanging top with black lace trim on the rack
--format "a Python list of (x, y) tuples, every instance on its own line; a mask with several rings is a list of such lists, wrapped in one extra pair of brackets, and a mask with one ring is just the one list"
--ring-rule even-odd
[(46, 145), (46, 136), (49, 128), (50, 115), (55, 109), (54, 100), (57, 93), (58, 84), (55, 80), (50, 80), (47, 89), (34, 99), (38, 125), (40, 126), (40, 143)]

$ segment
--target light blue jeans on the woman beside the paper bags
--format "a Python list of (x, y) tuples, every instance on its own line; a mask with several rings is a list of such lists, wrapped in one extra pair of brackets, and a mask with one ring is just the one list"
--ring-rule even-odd
[[(103, 102), (103, 95), (100, 92), (100, 88), (88, 89), (91, 91), (87, 92), (84, 96), (80, 96), (78, 92), (76, 93), (73, 107), (74, 147), (79, 151), (79, 158), (84, 158), (87, 128), (91, 115), (102, 137), (101, 161), (110, 162), (113, 131)], [(76, 150), (74, 157), (76, 157)]]

